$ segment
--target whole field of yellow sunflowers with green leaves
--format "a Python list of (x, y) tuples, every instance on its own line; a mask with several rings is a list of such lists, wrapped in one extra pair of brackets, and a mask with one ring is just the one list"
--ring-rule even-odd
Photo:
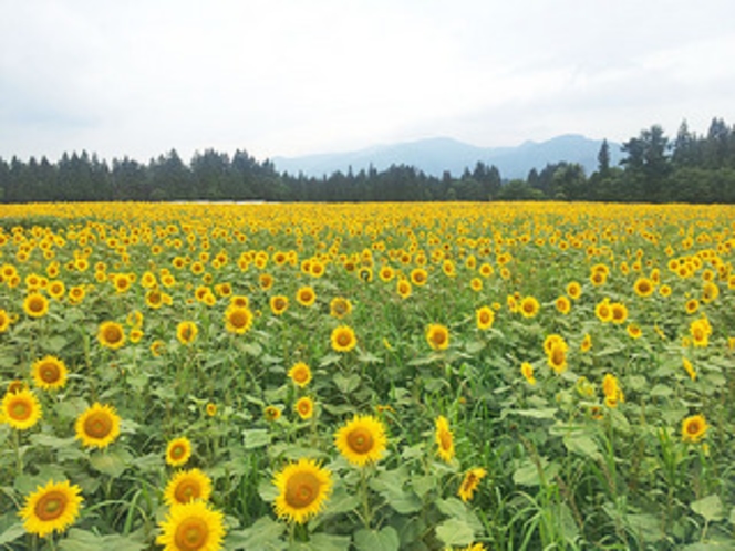
[(0, 220), (0, 549), (735, 549), (734, 207)]

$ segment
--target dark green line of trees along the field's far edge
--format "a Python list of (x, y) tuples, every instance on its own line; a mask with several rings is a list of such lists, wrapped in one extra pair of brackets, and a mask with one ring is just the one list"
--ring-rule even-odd
[(706, 134), (684, 121), (674, 138), (661, 126), (641, 131), (622, 145), (620, 166), (610, 164), (602, 142), (598, 167), (587, 175), (574, 163), (548, 164), (526, 179), (504, 180), (495, 166), (478, 160), (463, 174), (426, 175), (393, 165), (320, 178), (279, 173), (245, 150), (195, 153), (189, 163), (175, 149), (147, 164), (124, 157), (64, 154), (27, 162), (0, 157), (0, 201), (445, 201), (588, 200), (641, 202), (735, 202), (735, 126), (715, 117)]

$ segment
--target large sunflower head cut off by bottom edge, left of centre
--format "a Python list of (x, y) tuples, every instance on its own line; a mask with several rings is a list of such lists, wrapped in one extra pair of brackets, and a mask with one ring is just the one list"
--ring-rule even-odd
[(156, 543), (164, 551), (218, 551), (225, 538), (225, 517), (201, 500), (178, 503), (158, 524)]

